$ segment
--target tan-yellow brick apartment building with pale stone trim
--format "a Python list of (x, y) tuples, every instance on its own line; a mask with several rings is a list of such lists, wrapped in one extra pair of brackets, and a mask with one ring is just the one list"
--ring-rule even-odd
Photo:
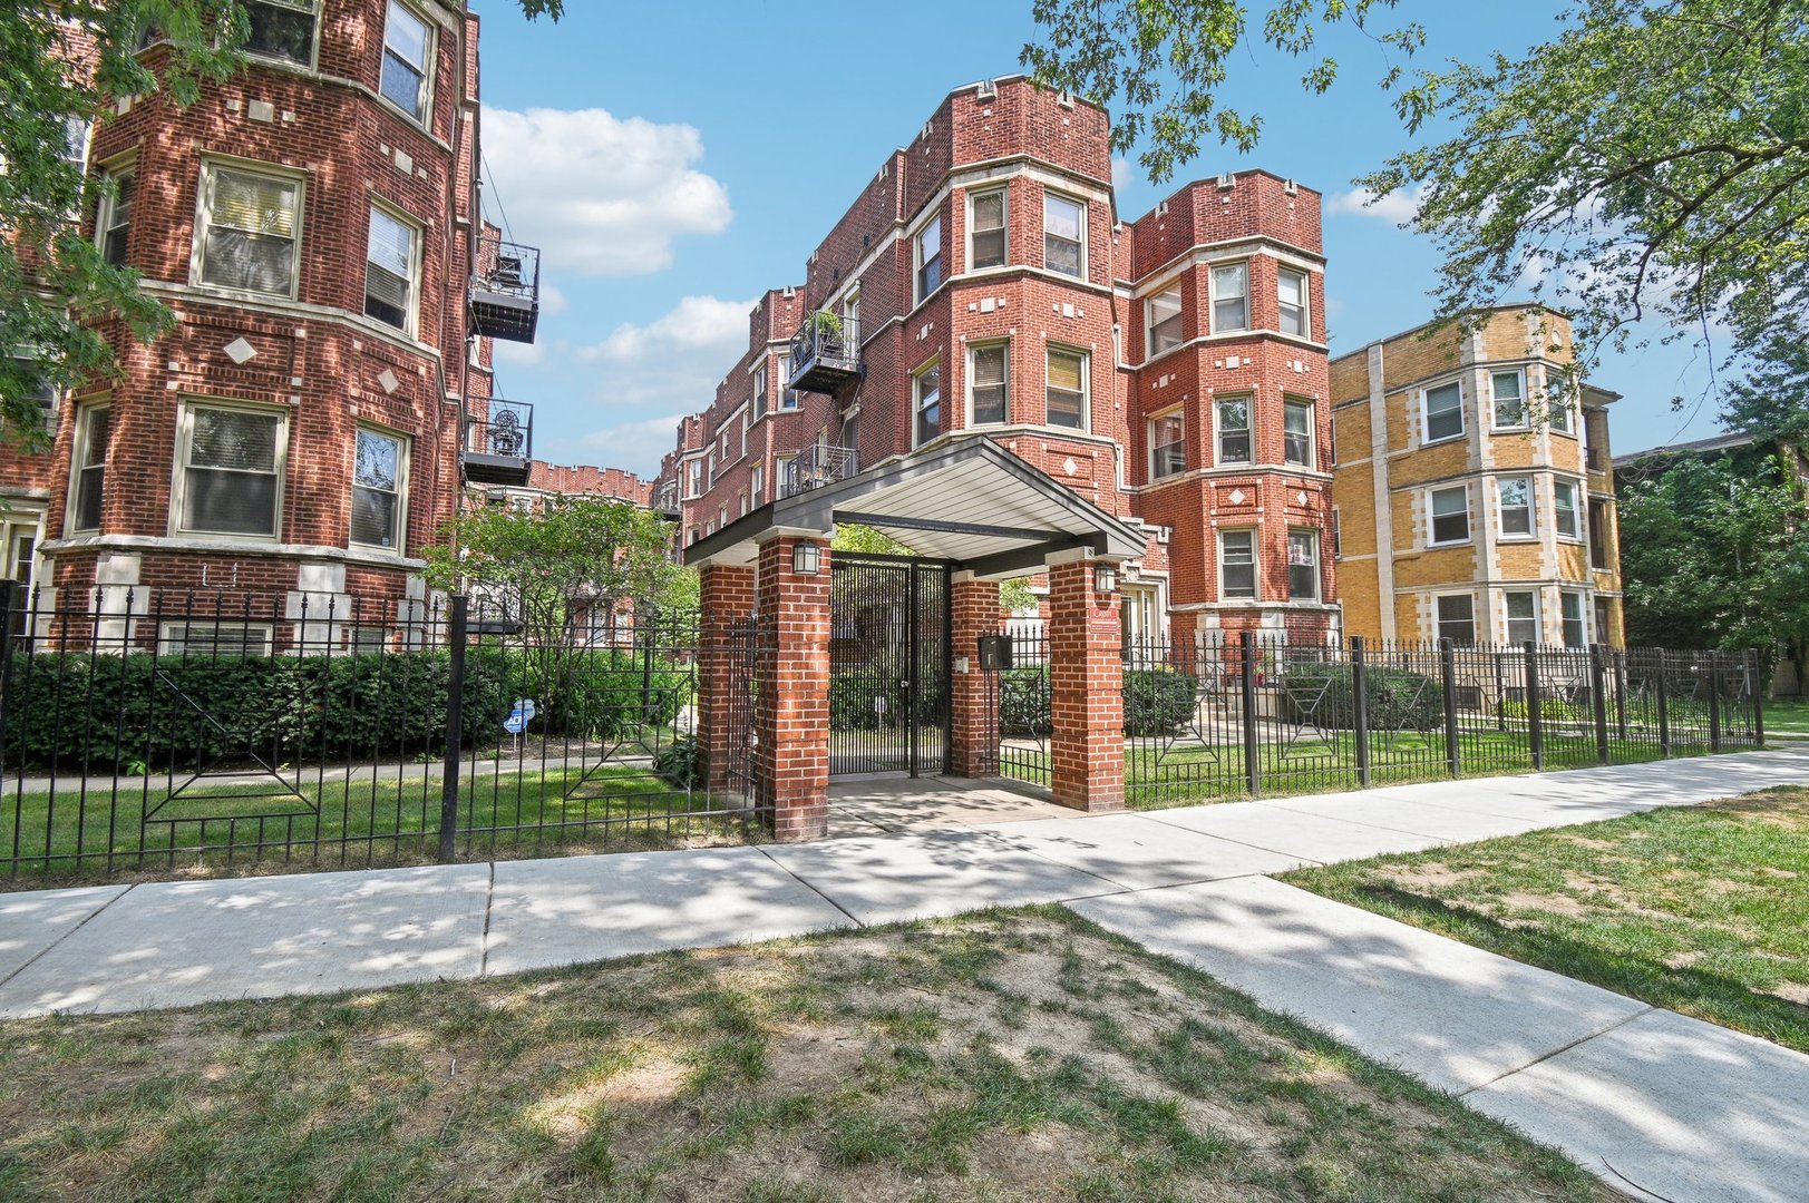
[(1344, 626), (1384, 640), (1621, 644), (1608, 456), (1617, 398), (1558, 389), (1539, 306), (1331, 362)]

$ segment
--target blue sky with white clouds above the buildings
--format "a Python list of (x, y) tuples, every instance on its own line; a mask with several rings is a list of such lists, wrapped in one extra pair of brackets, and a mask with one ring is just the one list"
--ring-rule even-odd
[[(803, 262), (885, 156), (952, 89), (1018, 71), (1029, 0), (868, 4), (599, 4), (528, 24), (483, 5), (485, 208), (543, 248), (532, 347), (497, 344), (497, 391), (535, 403), (535, 454), (651, 474), (684, 412), (709, 403), (765, 288)], [(1255, 5), (1254, 5), (1255, 7)], [(1518, 54), (1558, 33), (1556, 0), (1402, 4), (1429, 31), (1422, 63)], [(1386, 14), (1384, 14), (1386, 16)], [(1331, 353), (1418, 326), (1436, 255), (1362, 210), (1355, 175), (1406, 136), (1377, 80), (1386, 52), (1355, 33), (1330, 49), (1328, 96), (1261, 45), (1239, 54), (1230, 103), (1264, 116), (1250, 156), (1210, 147), (1178, 179), (1263, 166), (1326, 194)], [(876, 52), (883, 47), (883, 52)], [(1436, 130), (1435, 130), (1436, 132)], [(1120, 213), (1172, 192), (1120, 165)], [(1690, 347), (1610, 356), (1617, 452), (1717, 431), (1706, 358)], [(1672, 407), (1682, 394), (1684, 412)]]

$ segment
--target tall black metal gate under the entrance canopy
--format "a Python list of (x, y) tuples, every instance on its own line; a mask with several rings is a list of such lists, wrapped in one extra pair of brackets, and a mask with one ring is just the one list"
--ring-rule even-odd
[(830, 776), (946, 771), (948, 622), (948, 564), (830, 559)]

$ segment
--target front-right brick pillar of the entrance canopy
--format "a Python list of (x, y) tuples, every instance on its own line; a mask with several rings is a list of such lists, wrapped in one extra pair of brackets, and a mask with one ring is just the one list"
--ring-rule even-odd
[(1123, 662), (1118, 593), (1093, 592), (1091, 559), (1049, 564), (1049, 736), (1055, 801), (1125, 805)]

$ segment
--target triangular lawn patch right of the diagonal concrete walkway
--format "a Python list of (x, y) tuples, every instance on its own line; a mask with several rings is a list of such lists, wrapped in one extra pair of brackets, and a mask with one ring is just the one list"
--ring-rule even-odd
[(1809, 1053), (1805, 787), (1284, 881)]

